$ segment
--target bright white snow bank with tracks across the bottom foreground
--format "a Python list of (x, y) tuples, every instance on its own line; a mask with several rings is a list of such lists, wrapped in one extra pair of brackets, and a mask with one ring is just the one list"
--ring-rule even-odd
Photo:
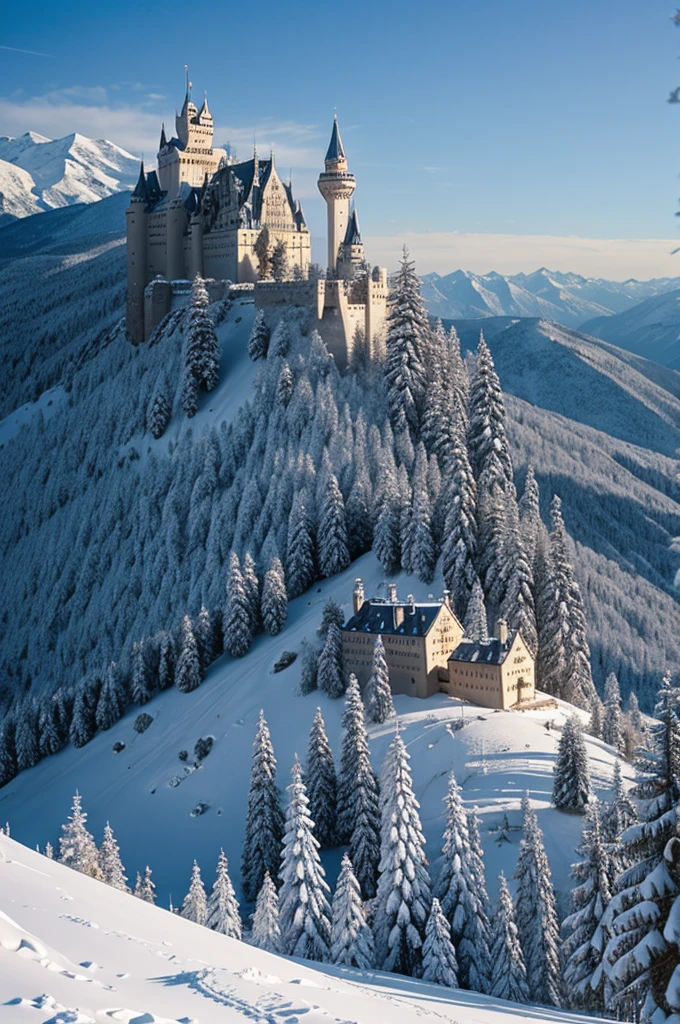
[(592, 1020), (396, 975), (274, 956), (5, 837), (0, 905), (0, 1024)]

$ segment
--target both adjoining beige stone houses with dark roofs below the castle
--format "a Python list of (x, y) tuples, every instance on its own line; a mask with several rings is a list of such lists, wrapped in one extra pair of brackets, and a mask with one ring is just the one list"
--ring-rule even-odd
[(345, 672), (353, 672), (362, 685), (373, 669), (373, 648), (378, 636), (385, 646), (393, 693), (429, 697), (439, 691), (483, 708), (510, 709), (534, 700), (534, 658), (517, 632), (503, 620), (497, 636), (474, 641), (443, 599), (399, 601), (396, 587), (387, 598), (367, 600), (357, 580), (352, 595), (353, 614), (342, 628)]

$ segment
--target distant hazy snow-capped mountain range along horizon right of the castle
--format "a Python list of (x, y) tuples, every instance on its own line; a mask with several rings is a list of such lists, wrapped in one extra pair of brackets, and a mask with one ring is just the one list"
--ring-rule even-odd
[(540, 316), (579, 327), (594, 316), (622, 312), (649, 296), (678, 288), (680, 279), (603, 281), (542, 267), (534, 273), (477, 274), (456, 270), (423, 278), (423, 297), (433, 316)]

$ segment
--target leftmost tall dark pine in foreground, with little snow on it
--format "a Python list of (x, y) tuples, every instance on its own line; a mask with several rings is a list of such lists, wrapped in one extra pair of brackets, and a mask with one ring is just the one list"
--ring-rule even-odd
[(277, 785), (277, 759), (269, 729), (260, 712), (253, 743), (241, 861), (243, 894), (248, 902), (257, 898), (267, 871), (275, 878), (283, 835), (284, 816), (281, 810), (281, 793)]

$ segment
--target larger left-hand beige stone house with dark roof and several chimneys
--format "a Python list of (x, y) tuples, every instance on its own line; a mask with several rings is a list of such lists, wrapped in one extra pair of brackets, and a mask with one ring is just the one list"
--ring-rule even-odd
[(357, 580), (353, 608), (353, 615), (342, 628), (345, 672), (353, 672), (362, 685), (368, 683), (373, 648), (381, 636), (392, 692), (415, 697), (438, 693), (449, 655), (463, 637), (448, 593), (441, 601), (416, 603), (412, 597), (399, 601), (396, 587), (390, 585), (386, 600), (365, 600), (364, 586)]

